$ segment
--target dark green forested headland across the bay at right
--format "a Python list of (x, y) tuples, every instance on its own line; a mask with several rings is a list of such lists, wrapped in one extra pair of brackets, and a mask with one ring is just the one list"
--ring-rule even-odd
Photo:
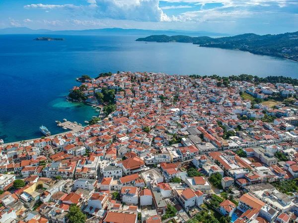
[(298, 61), (298, 32), (262, 36), (246, 33), (220, 38), (153, 35), (139, 38), (136, 41), (193, 43), (200, 47), (238, 49), (253, 54), (278, 56)]

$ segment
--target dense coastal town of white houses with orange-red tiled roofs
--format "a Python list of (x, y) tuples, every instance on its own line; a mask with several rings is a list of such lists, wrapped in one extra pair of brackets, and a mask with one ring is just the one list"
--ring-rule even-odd
[(298, 86), (85, 75), (79, 131), (0, 145), (0, 223), (298, 222)]

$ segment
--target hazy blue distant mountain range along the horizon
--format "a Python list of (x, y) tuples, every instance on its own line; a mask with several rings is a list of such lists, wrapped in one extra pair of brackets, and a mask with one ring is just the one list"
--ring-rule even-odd
[(0, 34), (64, 34), (64, 35), (189, 35), (189, 36), (228, 36), (225, 33), (214, 33), (206, 31), (184, 31), (184, 30), (145, 30), (145, 29), (86, 29), (86, 30), (63, 30), (52, 31), (48, 29), (33, 30), (27, 27), (15, 27), (0, 29)]

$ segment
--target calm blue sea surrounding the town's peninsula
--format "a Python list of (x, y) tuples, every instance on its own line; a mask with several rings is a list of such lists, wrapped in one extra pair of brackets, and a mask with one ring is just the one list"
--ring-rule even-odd
[(39, 126), (63, 131), (55, 120), (84, 123), (89, 106), (65, 102), (82, 74), (154, 71), (168, 74), (241, 73), (298, 77), (298, 63), (246, 52), (183, 43), (135, 42), (137, 36), (55, 36), (66, 41), (32, 41), (43, 35), (0, 35), (0, 138), (40, 137)]

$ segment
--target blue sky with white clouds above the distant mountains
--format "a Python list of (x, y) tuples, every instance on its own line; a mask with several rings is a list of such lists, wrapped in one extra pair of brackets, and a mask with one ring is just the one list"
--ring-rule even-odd
[(298, 31), (298, 0), (0, 0), (0, 28)]

